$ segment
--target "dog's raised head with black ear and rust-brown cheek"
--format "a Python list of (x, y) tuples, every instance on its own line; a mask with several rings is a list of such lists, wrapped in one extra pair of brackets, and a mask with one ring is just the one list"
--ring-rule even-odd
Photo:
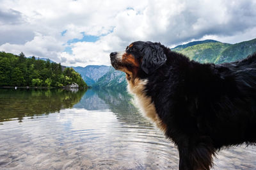
[(111, 52), (111, 65), (134, 79), (139, 72), (150, 75), (166, 62), (161, 43), (133, 42), (123, 52)]

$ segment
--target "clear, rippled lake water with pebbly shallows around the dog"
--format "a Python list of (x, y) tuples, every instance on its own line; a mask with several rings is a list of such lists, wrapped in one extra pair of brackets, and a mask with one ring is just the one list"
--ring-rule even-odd
[[(178, 169), (177, 148), (124, 91), (0, 89), (0, 169)], [(214, 169), (256, 169), (256, 146)]]

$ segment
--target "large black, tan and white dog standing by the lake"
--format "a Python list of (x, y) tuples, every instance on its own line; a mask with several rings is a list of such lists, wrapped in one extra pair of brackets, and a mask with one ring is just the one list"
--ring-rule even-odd
[(256, 54), (198, 63), (161, 43), (111, 52), (144, 116), (179, 150), (179, 169), (210, 169), (224, 147), (256, 143)]

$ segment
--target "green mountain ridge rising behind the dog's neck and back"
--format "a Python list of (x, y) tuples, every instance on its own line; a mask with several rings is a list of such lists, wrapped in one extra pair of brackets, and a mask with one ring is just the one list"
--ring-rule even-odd
[(180, 52), (200, 63), (223, 63), (237, 61), (256, 51), (256, 38), (235, 44), (205, 40), (177, 46), (171, 50)]

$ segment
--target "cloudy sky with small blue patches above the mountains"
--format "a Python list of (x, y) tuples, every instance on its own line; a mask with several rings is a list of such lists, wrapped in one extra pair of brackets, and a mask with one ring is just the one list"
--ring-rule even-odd
[(134, 41), (175, 47), (256, 38), (255, 0), (1, 0), (0, 51), (65, 66), (110, 65)]

